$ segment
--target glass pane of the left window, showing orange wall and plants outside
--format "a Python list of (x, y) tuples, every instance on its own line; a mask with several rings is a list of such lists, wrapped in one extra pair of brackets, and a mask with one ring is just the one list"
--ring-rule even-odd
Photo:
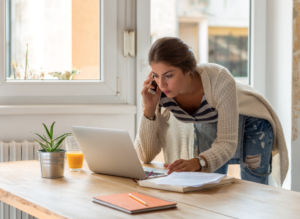
[(99, 0), (10, 0), (6, 80), (100, 80)]

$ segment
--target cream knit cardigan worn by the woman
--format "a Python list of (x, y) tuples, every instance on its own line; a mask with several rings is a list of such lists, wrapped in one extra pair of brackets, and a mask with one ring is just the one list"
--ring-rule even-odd
[[(239, 114), (262, 118), (272, 125), (272, 176), (282, 186), (289, 168), (288, 152), (280, 121), (270, 103), (249, 85), (236, 82), (220, 65), (200, 64), (197, 72), (208, 104), (218, 112), (217, 138), (209, 150), (201, 153), (208, 162), (208, 171), (214, 172), (234, 155)], [(191, 159), (195, 157), (193, 123), (179, 121), (167, 109), (159, 113), (157, 107), (155, 121), (142, 115), (134, 147), (144, 163), (150, 163), (161, 149), (166, 163)]]

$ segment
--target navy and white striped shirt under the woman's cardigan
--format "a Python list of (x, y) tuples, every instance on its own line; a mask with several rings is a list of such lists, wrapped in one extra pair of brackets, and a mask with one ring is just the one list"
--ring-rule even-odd
[(167, 97), (163, 92), (160, 96), (159, 107), (170, 110), (173, 115), (185, 123), (214, 123), (218, 121), (218, 112), (212, 108), (203, 95), (200, 107), (192, 115), (184, 111), (173, 98)]

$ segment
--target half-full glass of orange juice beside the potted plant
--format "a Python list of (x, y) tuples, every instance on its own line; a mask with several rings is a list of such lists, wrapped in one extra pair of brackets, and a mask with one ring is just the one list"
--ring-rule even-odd
[(82, 169), (83, 154), (75, 136), (66, 137), (66, 150), (69, 169), (78, 172)]

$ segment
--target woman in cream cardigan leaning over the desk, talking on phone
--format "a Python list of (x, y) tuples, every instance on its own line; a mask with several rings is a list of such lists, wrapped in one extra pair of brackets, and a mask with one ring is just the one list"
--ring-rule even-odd
[[(144, 163), (163, 149), (168, 174), (226, 174), (228, 164), (240, 164), (242, 179), (268, 184), (272, 172), (282, 185), (288, 170), (283, 131), (257, 91), (236, 82), (220, 65), (197, 66), (193, 52), (178, 38), (158, 39), (149, 51), (149, 64), (135, 141)], [(154, 88), (152, 81), (158, 85), (155, 95), (148, 91)]]

